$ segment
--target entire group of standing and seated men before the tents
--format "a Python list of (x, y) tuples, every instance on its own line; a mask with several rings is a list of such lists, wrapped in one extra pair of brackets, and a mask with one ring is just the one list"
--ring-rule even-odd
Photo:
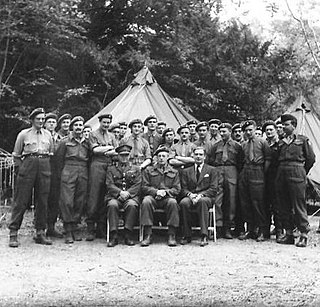
[[(309, 140), (295, 132), (297, 119), (284, 114), (259, 129), (254, 120), (231, 125), (219, 119), (190, 120), (177, 131), (156, 116), (112, 124), (99, 116), (92, 131), (81, 116), (30, 114), (32, 127), (17, 137), (16, 198), (9, 223), (9, 246), (18, 247), (24, 213), (35, 203), (36, 243), (52, 237), (70, 244), (106, 237), (118, 244), (119, 215), (124, 243), (134, 245), (134, 226), (143, 228), (141, 246), (152, 243), (156, 209), (163, 209), (168, 245), (192, 239), (194, 217), (200, 246), (208, 244), (209, 210), (215, 208), (217, 236), (255, 239), (276, 236), (280, 244), (307, 246), (306, 174), (315, 162)], [(145, 129), (146, 127), (146, 129)], [(128, 131), (127, 131), (128, 130)], [(55, 224), (61, 217), (64, 233)], [(272, 224), (274, 227), (272, 227)], [(272, 230), (272, 231), (271, 231)]]

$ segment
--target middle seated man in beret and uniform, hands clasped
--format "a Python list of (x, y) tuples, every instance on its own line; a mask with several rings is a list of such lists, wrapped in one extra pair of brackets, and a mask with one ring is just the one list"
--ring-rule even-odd
[(179, 227), (179, 207), (176, 197), (180, 193), (180, 179), (177, 170), (168, 164), (169, 150), (160, 147), (156, 152), (157, 163), (148, 167), (142, 176), (141, 225), (144, 239), (141, 246), (152, 241), (153, 213), (155, 208), (164, 209), (168, 225), (168, 245), (176, 246), (176, 230)]

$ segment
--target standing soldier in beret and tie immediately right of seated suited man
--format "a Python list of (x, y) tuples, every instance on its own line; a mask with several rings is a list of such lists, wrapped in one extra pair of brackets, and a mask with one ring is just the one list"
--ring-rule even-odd
[[(235, 226), (238, 173), (243, 160), (241, 145), (231, 138), (231, 130), (229, 123), (220, 125), (221, 140), (210, 148), (207, 155), (208, 163), (217, 168), (221, 178), (216, 198), (216, 220), (217, 227), (222, 226), (223, 221), (226, 239), (233, 238), (231, 228)], [(221, 234), (221, 230), (219, 232)]]

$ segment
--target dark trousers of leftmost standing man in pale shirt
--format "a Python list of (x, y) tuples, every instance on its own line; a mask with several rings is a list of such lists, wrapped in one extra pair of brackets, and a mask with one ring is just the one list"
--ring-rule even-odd
[(44, 230), (47, 226), (47, 207), (50, 188), (50, 159), (49, 157), (26, 157), (20, 166), (15, 202), (12, 208), (10, 230), (18, 230), (21, 227), (23, 215), (27, 210), (32, 191), (34, 189), (35, 228)]

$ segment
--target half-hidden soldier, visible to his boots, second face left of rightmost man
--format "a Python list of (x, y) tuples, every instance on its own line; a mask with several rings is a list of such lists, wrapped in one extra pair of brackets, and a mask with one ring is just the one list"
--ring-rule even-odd
[(271, 149), (270, 166), (266, 173), (266, 212), (268, 216), (269, 229), (271, 226), (271, 217), (274, 221), (274, 233), (276, 239), (282, 236), (282, 225), (279, 216), (279, 204), (276, 197), (276, 175), (278, 170), (278, 155), (279, 155), (279, 137), (277, 134), (277, 125), (273, 120), (267, 120), (262, 126), (262, 132), (266, 135), (266, 140)]

